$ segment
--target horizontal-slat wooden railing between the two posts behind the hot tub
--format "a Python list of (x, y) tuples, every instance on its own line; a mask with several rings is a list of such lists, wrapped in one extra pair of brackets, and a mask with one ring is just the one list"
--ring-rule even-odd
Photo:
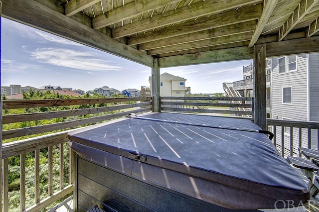
[[(161, 97), (160, 101), (161, 111), (252, 115), (251, 97)], [(246, 101), (249, 103), (246, 104)]]

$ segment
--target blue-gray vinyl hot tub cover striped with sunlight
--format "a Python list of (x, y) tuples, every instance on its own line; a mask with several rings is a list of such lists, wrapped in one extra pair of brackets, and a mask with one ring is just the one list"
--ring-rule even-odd
[[(163, 112), (142, 117), (260, 129), (239, 118)], [(263, 133), (122, 118), (72, 131), (68, 138), (77, 154), (94, 163), (228, 209), (309, 200), (307, 184)], [(146, 161), (124, 157), (126, 151)]]

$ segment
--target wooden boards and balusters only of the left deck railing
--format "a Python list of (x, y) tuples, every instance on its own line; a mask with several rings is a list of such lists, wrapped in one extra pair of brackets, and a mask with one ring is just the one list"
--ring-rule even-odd
[[(41, 119), (51, 119), (57, 117), (67, 117), (67, 116), (79, 116), (85, 114), (101, 113), (108, 111), (117, 111), (126, 108), (141, 107), (141, 109), (133, 109), (130, 112), (141, 113), (152, 110), (152, 100), (151, 97), (141, 97), (141, 98), (105, 98), (105, 99), (67, 99), (67, 100), (8, 100), (1, 101), (3, 104), (3, 109), (13, 109), (13, 108), (29, 108), (29, 107), (45, 107), (45, 106), (71, 106), (71, 105), (88, 105), (88, 104), (105, 104), (105, 103), (119, 103), (119, 102), (133, 102), (133, 101), (143, 101), (137, 104), (126, 104), (120, 106), (103, 106), (95, 108), (85, 108), (85, 109), (71, 109), (71, 110), (58, 110), (51, 112), (36, 112), (36, 113), (22, 113), (13, 115), (2, 116), (2, 123), (9, 124), (14, 122), (22, 121), (32, 121)], [(117, 112), (111, 114), (103, 114), (99, 116), (94, 116), (90, 118), (82, 118), (77, 120), (63, 121), (58, 123), (51, 123), (45, 125), (37, 125), (31, 127), (24, 127), (18, 129), (9, 129), (2, 131), (2, 138), (16, 138), (23, 135), (32, 135), (43, 132), (51, 132), (53, 130), (61, 130), (66, 128), (74, 128), (76, 126), (85, 125), (89, 123), (105, 121), (113, 118), (118, 118), (127, 115), (129, 112)], [(50, 204), (56, 202), (62, 197), (71, 194), (73, 191), (73, 152), (71, 149), (69, 152), (69, 179), (66, 183), (64, 181), (64, 167), (63, 162), (65, 160), (64, 146), (67, 142), (67, 133), (72, 131), (65, 130), (61, 132), (51, 133), (47, 135), (41, 135), (33, 138), (27, 138), (19, 141), (13, 141), (9, 143), (4, 143), (2, 145), (3, 159), (3, 211), (9, 210), (9, 197), (8, 197), (8, 159), (9, 157), (19, 156), (20, 157), (20, 211), (26, 212), (36, 212), (42, 210), (43, 208), (49, 206)], [(59, 145), (59, 176), (53, 176), (53, 146)], [(40, 150), (47, 148), (48, 152), (48, 193), (47, 198), (41, 200), (40, 197)], [(41, 150), (42, 151), (42, 150)], [(34, 205), (29, 207), (26, 206), (26, 189), (25, 189), (25, 154), (29, 152), (34, 152)], [(58, 191), (53, 194), (53, 179), (59, 179)], [(42, 196), (42, 194), (41, 194)], [(33, 201), (33, 200), (32, 200)], [(29, 204), (29, 203), (28, 203)], [(26, 207), (28, 207), (26, 209)]]

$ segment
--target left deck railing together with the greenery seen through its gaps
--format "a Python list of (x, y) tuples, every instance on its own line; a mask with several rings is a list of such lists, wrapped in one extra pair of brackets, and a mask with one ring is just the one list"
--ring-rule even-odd
[[(129, 112), (151, 111), (151, 100), (151, 97), (143, 97), (2, 101), (3, 111), (21, 110), (21, 108), (31, 110), (30, 113), (2, 116), (3, 126), (17, 122), (25, 125), (25, 127), (2, 131), (4, 141), (2, 145), (2, 170), (0, 169), (3, 173), (2, 197), (0, 192), (0, 199), (3, 203), (1, 206), (0, 201), (2, 211), (8, 212), (10, 206), (19, 205), (19, 208), (14, 209), (38, 212), (70, 195), (73, 192), (73, 169), (71, 168), (73, 154), (70, 154), (66, 143), (67, 133), (73, 128), (122, 117)], [(137, 101), (141, 101), (141, 103), (136, 103)], [(79, 105), (78, 109), (58, 109)], [(54, 107), (56, 110), (32, 112), (33, 108), (47, 107)], [(61, 120), (64, 117), (67, 119)], [(53, 119), (55, 123), (27, 125), (30, 121), (37, 123), (39, 120), (46, 119)], [(24, 139), (19, 140), (21, 138)], [(5, 143), (8, 141), (6, 139), (15, 141)], [(12, 167), (11, 161), (19, 161), (19, 166)], [(17, 176), (17, 182), (13, 182), (15, 183), (14, 188), (9, 187), (12, 185), (12, 182), (9, 184), (9, 180), (11, 180), (9, 176), (12, 174)]]

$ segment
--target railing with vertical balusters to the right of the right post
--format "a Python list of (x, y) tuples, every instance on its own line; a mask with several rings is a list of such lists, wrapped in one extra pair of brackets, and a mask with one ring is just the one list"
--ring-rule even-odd
[(267, 119), (268, 129), (274, 133), (273, 142), (283, 157), (299, 156), (299, 147), (319, 147), (319, 122)]

